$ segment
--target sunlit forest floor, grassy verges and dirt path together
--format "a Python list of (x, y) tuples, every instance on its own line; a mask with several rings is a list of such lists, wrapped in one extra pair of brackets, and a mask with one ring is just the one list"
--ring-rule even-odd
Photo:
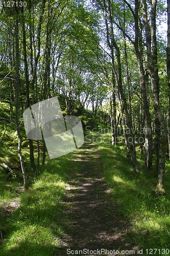
[(1, 170), (0, 255), (170, 255), (170, 164), (166, 197), (155, 197), (157, 177), (142, 159), (136, 174), (124, 144), (88, 137), (30, 174), (27, 192)]

